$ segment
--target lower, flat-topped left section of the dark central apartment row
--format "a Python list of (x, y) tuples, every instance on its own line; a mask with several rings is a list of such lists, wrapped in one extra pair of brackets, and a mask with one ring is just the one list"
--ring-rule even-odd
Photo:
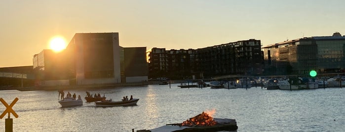
[(194, 49), (165, 50), (152, 48), (148, 53), (150, 78), (168, 77), (169, 79), (192, 79), (195, 77)]

